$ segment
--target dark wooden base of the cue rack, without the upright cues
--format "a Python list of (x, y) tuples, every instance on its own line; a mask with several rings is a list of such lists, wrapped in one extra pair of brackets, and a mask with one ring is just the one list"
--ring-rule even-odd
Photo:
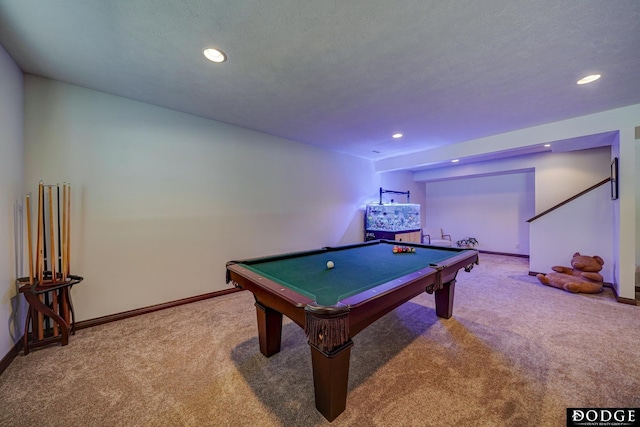
[[(29, 312), (24, 323), (24, 336), (22, 337), (24, 354), (29, 354), (29, 347), (41, 347), (60, 342), (61, 345), (69, 344), (69, 334), (75, 333), (75, 313), (71, 301), (71, 287), (84, 280), (80, 276), (69, 274), (65, 280), (58, 277), (49, 280), (45, 272), (42, 283), (34, 281), (29, 283), (28, 277), (17, 280), (18, 290), (29, 303)], [(45, 295), (50, 297), (45, 300)], [(48, 300), (51, 300), (48, 302)], [(44, 318), (51, 319), (53, 325), (45, 327)], [(31, 333), (29, 332), (31, 326)]]

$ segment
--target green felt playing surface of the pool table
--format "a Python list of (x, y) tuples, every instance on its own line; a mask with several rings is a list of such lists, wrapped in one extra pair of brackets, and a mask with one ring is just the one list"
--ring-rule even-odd
[[(460, 249), (412, 247), (415, 252), (393, 253), (397, 242), (324, 248), (318, 251), (244, 261), (244, 266), (319, 305), (338, 301), (388, 283), (398, 277), (438, 266), (458, 256)], [(332, 261), (334, 268), (327, 268)]]

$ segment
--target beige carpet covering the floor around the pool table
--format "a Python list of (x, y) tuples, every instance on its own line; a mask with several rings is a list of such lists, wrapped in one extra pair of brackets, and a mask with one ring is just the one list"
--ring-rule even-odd
[(287, 320), (281, 352), (263, 357), (241, 292), (18, 356), (0, 376), (0, 425), (538, 427), (564, 426), (567, 407), (640, 407), (640, 307), (527, 273), (482, 254), (458, 275), (453, 318), (424, 294), (365, 329), (331, 424), (303, 331)]

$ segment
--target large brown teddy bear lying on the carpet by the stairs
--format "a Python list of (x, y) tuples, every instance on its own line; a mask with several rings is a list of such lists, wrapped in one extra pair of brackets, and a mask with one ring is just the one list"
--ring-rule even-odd
[(583, 292), (597, 294), (602, 292), (603, 277), (598, 271), (602, 270), (604, 260), (599, 256), (573, 254), (571, 267), (556, 265), (551, 267), (554, 273), (538, 274), (540, 283), (564, 289), (569, 292)]

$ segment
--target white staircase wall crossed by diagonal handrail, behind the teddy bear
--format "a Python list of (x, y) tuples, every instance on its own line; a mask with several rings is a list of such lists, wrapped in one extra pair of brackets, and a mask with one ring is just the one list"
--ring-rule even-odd
[[(557, 153), (536, 166), (536, 213), (586, 190), (611, 174), (611, 148)], [(575, 252), (605, 260), (602, 275), (615, 283), (614, 207), (609, 184), (531, 224), (529, 269), (546, 273), (554, 265), (570, 265)]]

